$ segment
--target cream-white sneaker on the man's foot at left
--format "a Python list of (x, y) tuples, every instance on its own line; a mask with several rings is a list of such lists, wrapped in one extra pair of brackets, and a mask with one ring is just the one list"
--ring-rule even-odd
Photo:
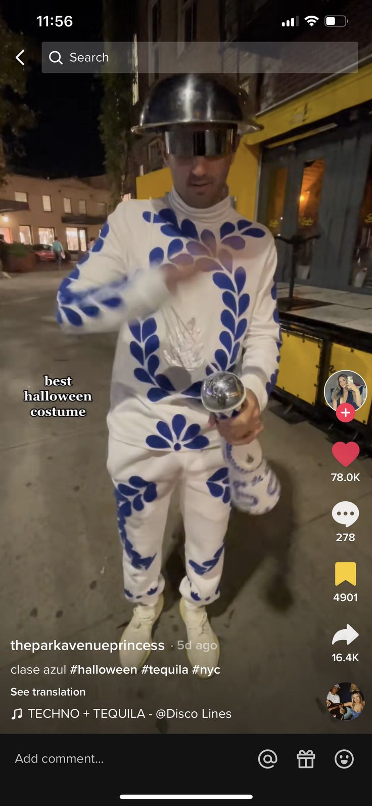
[[(134, 644), (141, 645), (151, 643), (152, 628), (163, 610), (163, 604), (164, 598), (161, 593), (156, 605), (137, 605), (120, 641), (126, 642), (126, 644), (134, 642)], [(134, 666), (137, 670), (141, 669), (151, 654), (151, 649), (142, 649), (141, 646), (139, 649), (126, 649), (126, 644), (119, 650), (122, 667)]]

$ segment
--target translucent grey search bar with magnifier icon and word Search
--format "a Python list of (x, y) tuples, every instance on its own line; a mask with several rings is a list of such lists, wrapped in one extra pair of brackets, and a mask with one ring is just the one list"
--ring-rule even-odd
[[(159, 73), (357, 73), (358, 42), (157, 42)], [(43, 73), (151, 73), (153, 42), (43, 42)], [(150, 58), (149, 58), (150, 56)], [(150, 64), (150, 66), (149, 66)]]

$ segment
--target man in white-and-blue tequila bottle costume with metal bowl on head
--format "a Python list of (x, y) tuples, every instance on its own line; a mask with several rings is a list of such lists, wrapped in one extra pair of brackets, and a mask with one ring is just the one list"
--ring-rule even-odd
[[(139, 669), (150, 654), (141, 647), (163, 608), (163, 533), (176, 484), (188, 659), (218, 664), (206, 606), (219, 596), (231, 507), (220, 435), (242, 445), (262, 430), (281, 343), (274, 239), (234, 210), (226, 185), (239, 133), (259, 128), (246, 93), (225, 81), (197, 74), (159, 81), (133, 131), (159, 134), (172, 190), (121, 202), (60, 285), (57, 319), (66, 332), (118, 330), (107, 467), (124, 591), (135, 605), (122, 635), (124, 666)], [(238, 417), (217, 423), (200, 387), (221, 370), (241, 378), (246, 401)]]

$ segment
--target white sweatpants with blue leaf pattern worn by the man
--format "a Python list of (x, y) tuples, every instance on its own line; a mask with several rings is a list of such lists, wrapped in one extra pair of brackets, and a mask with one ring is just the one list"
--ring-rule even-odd
[(149, 451), (110, 436), (107, 469), (117, 500), (126, 598), (154, 605), (163, 592), (163, 534), (172, 491), (180, 484), (186, 562), (180, 593), (199, 606), (216, 600), (231, 509), (221, 447)]

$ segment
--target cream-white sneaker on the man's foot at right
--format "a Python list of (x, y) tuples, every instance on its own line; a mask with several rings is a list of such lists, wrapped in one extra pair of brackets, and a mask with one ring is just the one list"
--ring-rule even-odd
[[(214, 675), (220, 658), (218, 638), (208, 621), (205, 607), (188, 608), (184, 597), (180, 600), (180, 614), (188, 633), (191, 649), (187, 649), (192, 667), (198, 667), (196, 675), (207, 678)], [(203, 646), (205, 647), (203, 649)], [(211, 674), (211, 670), (213, 672)]]

